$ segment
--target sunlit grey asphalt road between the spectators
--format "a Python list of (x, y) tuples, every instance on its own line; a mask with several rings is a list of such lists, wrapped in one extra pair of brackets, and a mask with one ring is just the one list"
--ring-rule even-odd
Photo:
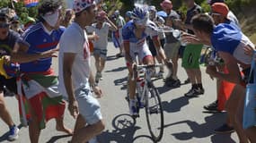
[[(102, 105), (102, 114), (106, 129), (98, 136), (101, 143), (153, 143), (150, 139), (146, 125), (145, 112), (141, 112), (140, 118), (135, 125), (124, 128), (116, 125), (117, 122), (126, 119), (132, 121), (128, 114), (126, 96), (126, 76), (128, 71), (123, 58), (116, 59), (114, 55), (119, 52), (112, 44), (109, 44), (108, 62), (103, 74), (100, 86), (104, 97), (99, 99)], [(94, 64), (93, 69), (94, 69)], [(57, 72), (57, 59), (53, 64)], [(216, 98), (216, 83), (210, 80), (202, 67), (203, 86), (205, 95), (188, 98), (183, 94), (190, 89), (190, 84), (182, 85), (181, 88), (167, 88), (163, 86), (163, 80), (155, 80), (154, 85), (161, 93), (164, 110), (164, 133), (161, 143), (234, 143), (238, 142), (237, 135), (215, 134), (214, 129), (225, 122), (225, 113), (204, 113), (203, 105), (207, 105)], [(165, 73), (166, 74), (166, 73)], [(181, 81), (187, 79), (185, 71), (179, 67), (178, 76)], [(6, 97), (6, 105), (13, 116), (13, 121), (19, 124), (17, 100), (14, 97)], [(73, 128), (75, 120), (66, 110), (65, 124)], [(8, 127), (0, 121), (0, 142), (6, 140)], [(14, 143), (29, 143), (28, 128), (20, 130), (20, 138)], [(41, 131), (40, 143), (66, 143), (70, 140), (62, 132), (55, 130), (55, 121), (49, 121), (47, 128)]]

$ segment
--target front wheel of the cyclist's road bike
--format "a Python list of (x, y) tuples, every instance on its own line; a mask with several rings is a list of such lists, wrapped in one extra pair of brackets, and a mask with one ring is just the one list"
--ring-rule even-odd
[(163, 107), (159, 93), (154, 86), (148, 88), (146, 97), (146, 122), (152, 139), (155, 142), (163, 137)]

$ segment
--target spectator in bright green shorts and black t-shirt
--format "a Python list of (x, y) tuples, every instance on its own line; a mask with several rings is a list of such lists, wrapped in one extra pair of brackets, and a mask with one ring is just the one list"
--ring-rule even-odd
[[(194, 0), (184, 0), (188, 11), (186, 16), (185, 25), (183, 27), (188, 30), (188, 33), (194, 34), (191, 19), (193, 16), (202, 13), (202, 8), (195, 3)], [(187, 74), (190, 78), (190, 82), (192, 87), (190, 91), (186, 93), (185, 97), (195, 97), (198, 95), (202, 95), (205, 93), (205, 90), (202, 85), (202, 75), (199, 68), (199, 58), (201, 54), (201, 49), (203, 45), (188, 45), (184, 49), (183, 57), (182, 57), (182, 67), (187, 71)]]

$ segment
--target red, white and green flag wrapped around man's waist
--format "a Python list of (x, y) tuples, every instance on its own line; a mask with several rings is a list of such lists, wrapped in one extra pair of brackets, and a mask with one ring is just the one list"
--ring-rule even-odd
[[(65, 102), (57, 91), (57, 76), (22, 75), (17, 80), (19, 112), (22, 124), (31, 120), (31, 111), (38, 117), (40, 129), (53, 118), (60, 118), (65, 111)], [(31, 110), (32, 108), (32, 110)]]

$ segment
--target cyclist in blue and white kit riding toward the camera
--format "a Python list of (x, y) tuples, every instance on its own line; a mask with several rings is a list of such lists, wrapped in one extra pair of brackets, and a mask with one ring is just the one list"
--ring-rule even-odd
[(148, 46), (146, 45), (146, 37), (150, 36), (153, 39), (154, 47), (163, 61), (168, 67), (172, 66), (166, 56), (163, 48), (158, 40), (158, 32), (154, 22), (149, 21), (149, 13), (146, 7), (135, 7), (132, 12), (132, 21), (122, 29), (123, 44), (125, 48), (125, 58), (128, 66), (128, 90), (129, 90), (129, 110), (130, 114), (137, 116), (136, 108), (136, 81), (131, 80), (133, 75), (133, 67), (136, 53), (139, 60), (144, 64), (154, 64), (153, 56), (151, 55)]

